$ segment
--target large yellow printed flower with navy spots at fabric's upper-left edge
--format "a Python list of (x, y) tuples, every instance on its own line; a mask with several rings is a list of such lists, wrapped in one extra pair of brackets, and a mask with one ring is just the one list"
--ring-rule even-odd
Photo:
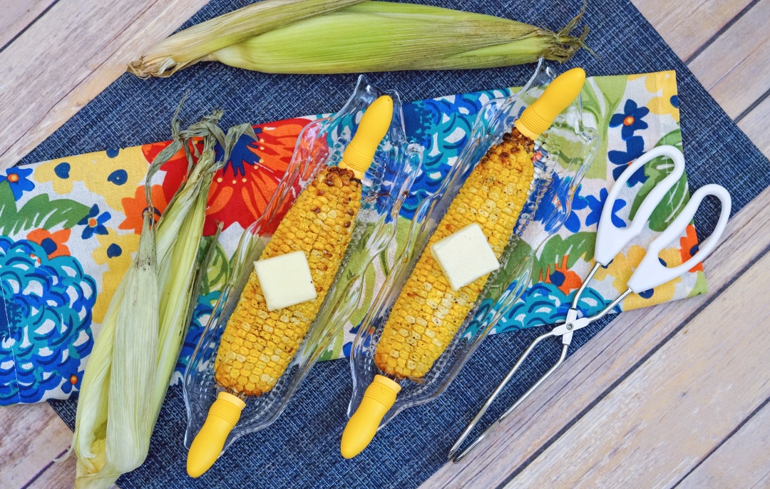
[(104, 197), (108, 206), (122, 210), (122, 199), (132, 197), (147, 173), (141, 146), (92, 152), (71, 158), (52, 159), (35, 168), (35, 180), (51, 182), (54, 192), (72, 192), (82, 182), (92, 193)]

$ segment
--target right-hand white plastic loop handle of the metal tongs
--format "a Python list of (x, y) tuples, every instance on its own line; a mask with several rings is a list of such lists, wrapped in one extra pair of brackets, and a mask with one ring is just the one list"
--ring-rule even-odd
[[(719, 220), (717, 221), (717, 225), (711, 233), (711, 236), (708, 236), (708, 238), (698, 246), (698, 253), (695, 253), (695, 255), (685, 263), (682, 263), (679, 266), (664, 266), (660, 260), (658, 260), (658, 253), (661, 253), (661, 250), (675, 239), (678, 239), (679, 236), (685, 232), (688, 224), (692, 221), (692, 217), (698, 212), (698, 207), (701, 206), (701, 202), (707, 196), (715, 196), (721, 202)], [(711, 183), (698, 189), (692, 194), (690, 202), (688, 202), (685, 209), (682, 209), (681, 213), (674, 219), (674, 222), (661, 233), (661, 236), (658, 236), (652, 243), (650, 243), (647, 254), (644, 255), (641, 263), (639, 263), (639, 266), (636, 267), (633, 275), (631, 275), (631, 279), (628, 280), (628, 288), (635, 293), (650, 290), (669, 280), (674, 280), (682, 273), (685, 273), (693, 266), (698, 265), (698, 263), (705, 260), (706, 257), (714, 251), (722, 232), (725, 231), (727, 219), (730, 216), (731, 206), (732, 200), (725, 187)]]

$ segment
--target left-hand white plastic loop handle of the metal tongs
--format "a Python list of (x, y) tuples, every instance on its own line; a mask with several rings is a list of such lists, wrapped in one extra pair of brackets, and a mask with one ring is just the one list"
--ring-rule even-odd
[[(640, 169), (642, 166), (651, 162), (658, 156), (668, 156), (672, 162), (674, 162), (674, 169), (671, 173), (662, 179), (658, 185), (650, 191), (648, 196), (644, 197), (641, 206), (636, 211), (634, 219), (628, 227), (619, 228), (612, 223), (612, 211), (614, 208), (615, 200), (618, 199), (618, 194), (621, 192), (624, 184), (628, 182), (628, 179)], [(636, 161), (632, 162), (621, 176), (615, 181), (614, 185), (610, 189), (606, 202), (604, 202), (604, 208), (601, 209), (601, 219), (599, 219), (599, 226), (596, 230), (596, 245), (594, 246), (594, 260), (601, 263), (603, 266), (607, 266), (612, 259), (620, 253), (621, 250), (631, 242), (636, 236), (639, 236), (641, 230), (647, 224), (648, 219), (652, 215), (655, 207), (658, 203), (661, 203), (666, 193), (675, 186), (681, 176), (685, 173), (685, 156), (681, 154), (681, 151), (675, 146), (664, 145), (658, 146), (645, 152)], [(668, 244), (668, 243), (667, 243)]]

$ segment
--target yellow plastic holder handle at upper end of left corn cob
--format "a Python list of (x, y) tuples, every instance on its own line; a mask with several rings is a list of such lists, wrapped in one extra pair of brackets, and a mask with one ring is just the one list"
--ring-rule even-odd
[(393, 99), (382, 95), (363, 112), (356, 136), (343, 152), (340, 168), (353, 170), (357, 179), (362, 179), (372, 164), (374, 152), (390, 128), (393, 119)]

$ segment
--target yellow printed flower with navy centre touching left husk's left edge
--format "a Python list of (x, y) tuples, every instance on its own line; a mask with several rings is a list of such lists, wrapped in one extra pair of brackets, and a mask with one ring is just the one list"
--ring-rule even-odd
[(139, 235), (134, 233), (118, 234), (115, 229), (107, 228), (107, 234), (97, 234), (99, 247), (93, 253), (95, 263), (107, 264), (109, 270), (102, 274), (102, 286), (93, 308), (93, 320), (101, 323), (107, 312), (112, 294), (118, 288), (120, 280), (131, 265), (131, 254), (139, 250)]

